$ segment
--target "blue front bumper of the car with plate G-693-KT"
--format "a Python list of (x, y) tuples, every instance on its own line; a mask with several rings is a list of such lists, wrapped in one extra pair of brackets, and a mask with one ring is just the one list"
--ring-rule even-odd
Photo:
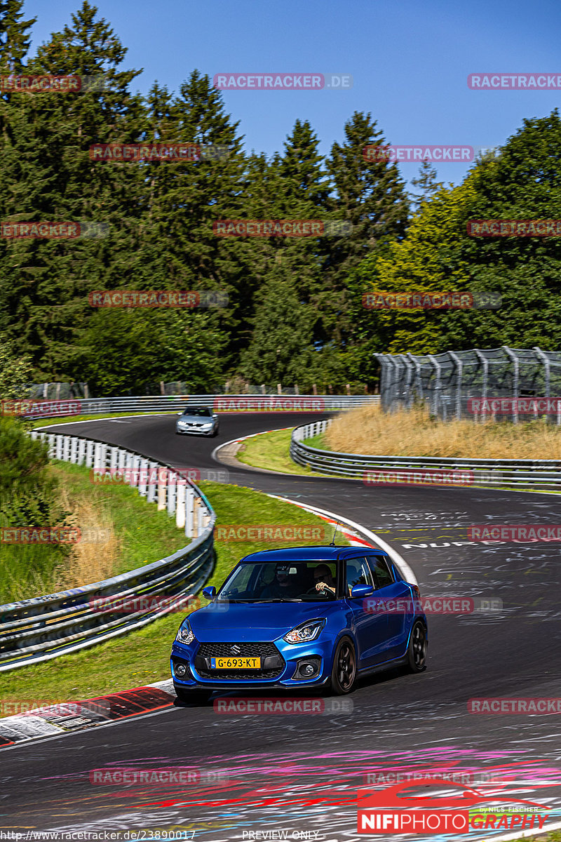
[[(246, 671), (241, 672), (238, 678), (233, 670), (209, 669), (208, 658), (212, 647), (216, 647), (218, 657), (224, 657), (220, 647), (225, 645), (230, 647), (234, 643), (238, 643), (242, 648), (263, 647), (260, 656), (262, 658), (262, 675), (253, 678), (251, 672)], [(273, 647), (278, 653), (278, 658), (275, 658), (272, 649), (267, 651), (264, 647)], [(203, 653), (199, 653), (201, 649)], [(323, 642), (313, 641), (296, 644), (287, 643), (282, 639), (280, 641), (248, 642), (246, 644), (235, 640), (227, 642), (227, 644), (193, 642), (189, 645), (174, 641), (170, 667), (173, 681), (185, 690), (203, 688), (206, 690), (240, 690), (242, 688), (287, 690), (297, 687), (320, 687), (325, 685), (325, 682), (331, 676), (333, 649), (332, 642), (328, 639)], [(255, 654), (257, 655), (257, 652)], [(240, 657), (245, 655), (246, 652), (243, 651)], [(247, 657), (252, 657), (249, 650)], [(181, 678), (177, 676), (175, 671), (178, 663), (183, 663), (187, 668), (187, 673)], [(311, 663), (315, 666), (315, 673), (311, 678), (305, 678), (299, 674), (299, 669), (305, 663)]]

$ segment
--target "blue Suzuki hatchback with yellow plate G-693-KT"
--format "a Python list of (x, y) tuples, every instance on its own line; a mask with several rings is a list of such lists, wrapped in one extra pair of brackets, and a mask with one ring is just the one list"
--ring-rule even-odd
[(419, 589), (381, 550), (347, 546), (253, 552), (193, 611), (172, 646), (180, 701), (214, 690), (317, 688), (350, 693), (357, 678), (426, 666)]

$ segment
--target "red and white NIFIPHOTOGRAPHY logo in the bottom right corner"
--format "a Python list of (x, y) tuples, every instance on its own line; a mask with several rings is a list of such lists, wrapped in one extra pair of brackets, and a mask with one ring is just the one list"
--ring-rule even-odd
[[(442, 791), (442, 778), (428, 778), (423, 786)], [(359, 834), (465, 834), (469, 830), (541, 830), (551, 809), (544, 804), (513, 798), (494, 783), (489, 792), (454, 783), (459, 792), (444, 796), (400, 795), (413, 790), (405, 781), (384, 790), (359, 789), (357, 832)], [(500, 806), (489, 806), (500, 804)], [(479, 806), (483, 805), (483, 806)]]

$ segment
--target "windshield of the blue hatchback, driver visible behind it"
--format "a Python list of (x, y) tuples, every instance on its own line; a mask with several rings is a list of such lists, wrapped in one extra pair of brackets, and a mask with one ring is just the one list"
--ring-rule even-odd
[(241, 562), (218, 600), (298, 602), (335, 600), (336, 562)]

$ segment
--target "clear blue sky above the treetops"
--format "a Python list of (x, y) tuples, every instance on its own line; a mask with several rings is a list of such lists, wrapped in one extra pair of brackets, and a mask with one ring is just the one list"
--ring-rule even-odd
[[(27, 0), (35, 46), (71, 22), (82, 0)], [(496, 146), (524, 118), (548, 114), (561, 91), (472, 91), (472, 72), (561, 73), (558, 0), (99, 0), (129, 48), (124, 66), (144, 68), (171, 90), (194, 69), (218, 72), (350, 73), (346, 91), (225, 91), (246, 149), (282, 150), (294, 120), (310, 120), (329, 152), (352, 112), (369, 111), (392, 144)], [(458, 184), (465, 163), (442, 163)], [(405, 179), (418, 164), (402, 163)]]

